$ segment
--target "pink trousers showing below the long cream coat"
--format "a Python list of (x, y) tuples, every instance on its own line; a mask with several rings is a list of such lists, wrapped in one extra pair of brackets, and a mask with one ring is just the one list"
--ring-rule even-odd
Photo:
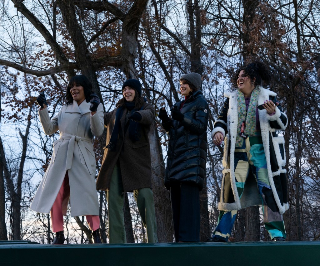
[[(69, 176), (68, 172), (62, 182), (59, 193), (57, 195), (56, 200), (54, 201), (50, 216), (51, 216), (51, 224), (52, 224), (52, 232), (63, 231), (63, 214), (62, 214), (62, 206), (63, 204), (68, 204), (70, 196), (70, 186), (69, 186)], [(89, 225), (90, 230), (95, 231), (100, 227), (100, 219), (99, 215), (86, 215), (87, 223)]]

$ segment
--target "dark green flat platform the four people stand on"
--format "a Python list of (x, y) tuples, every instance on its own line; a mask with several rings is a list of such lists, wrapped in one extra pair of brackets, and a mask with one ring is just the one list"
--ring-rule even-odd
[(0, 265), (318, 266), (320, 241), (118, 245), (0, 241)]

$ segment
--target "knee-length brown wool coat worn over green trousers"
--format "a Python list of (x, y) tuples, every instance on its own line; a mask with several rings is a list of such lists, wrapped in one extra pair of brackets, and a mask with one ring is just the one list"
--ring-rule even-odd
[[(107, 141), (109, 144), (111, 133), (115, 125), (116, 110), (104, 114), (104, 125), (107, 127)], [(124, 109), (121, 117), (121, 130), (115, 151), (104, 148), (102, 165), (97, 179), (98, 190), (109, 190), (110, 180), (117, 160), (120, 163), (124, 192), (131, 192), (144, 187), (151, 188), (151, 158), (149, 144), (149, 130), (154, 122), (155, 108), (150, 103), (145, 103), (143, 110), (137, 111), (142, 119), (141, 138), (132, 142), (129, 138), (129, 130), (124, 133), (124, 127), (129, 120), (127, 109)]]

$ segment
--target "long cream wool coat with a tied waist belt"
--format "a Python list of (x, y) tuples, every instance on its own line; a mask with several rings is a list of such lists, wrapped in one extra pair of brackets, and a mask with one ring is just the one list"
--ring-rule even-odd
[[(50, 119), (48, 108), (39, 110), (44, 133), (51, 135), (59, 130), (60, 139), (53, 143), (53, 154), (30, 209), (49, 213), (55, 201), (66, 172), (70, 185), (71, 216), (99, 215), (99, 202), (96, 190), (96, 160), (92, 138), (103, 132), (103, 107), (98, 106), (92, 116), (90, 103), (76, 101), (63, 105), (54, 118)], [(69, 199), (63, 202), (66, 215)]]

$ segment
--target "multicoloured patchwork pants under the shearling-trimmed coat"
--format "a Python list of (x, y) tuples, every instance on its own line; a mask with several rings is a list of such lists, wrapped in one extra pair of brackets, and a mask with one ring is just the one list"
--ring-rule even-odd
[[(257, 189), (262, 202), (263, 221), (270, 238), (278, 236), (286, 238), (282, 214), (279, 211), (272, 211), (265, 200), (265, 194), (272, 193), (261, 136), (249, 136), (244, 141), (243, 147), (235, 149), (235, 178), (239, 198), (243, 194), (244, 184), (250, 171), (257, 181)], [(213, 237), (228, 241), (236, 214), (236, 210), (220, 211)]]

